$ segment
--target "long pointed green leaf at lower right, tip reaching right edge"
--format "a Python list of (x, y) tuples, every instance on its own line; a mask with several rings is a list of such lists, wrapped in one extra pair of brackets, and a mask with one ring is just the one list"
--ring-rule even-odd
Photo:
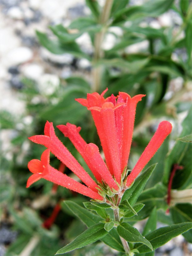
[[(157, 249), (163, 244), (166, 244), (172, 238), (192, 229), (191, 222), (185, 222), (180, 224), (174, 224), (155, 231), (150, 232), (145, 236), (147, 240), (152, 244), (153, 249)], [(140, 253), (150, 252), (150, 249), (143, 244), (136, 244), (135, 248), (139, 250)]]

